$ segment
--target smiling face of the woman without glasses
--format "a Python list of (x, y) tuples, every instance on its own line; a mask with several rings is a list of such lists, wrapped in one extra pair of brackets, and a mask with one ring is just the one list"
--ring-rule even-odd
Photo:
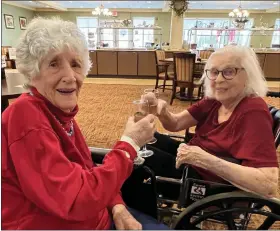
[(54, 106), (70, 112), (84, 80), (81, 57), (74, 51), (50, 52), (40, 64), (31, 84)]

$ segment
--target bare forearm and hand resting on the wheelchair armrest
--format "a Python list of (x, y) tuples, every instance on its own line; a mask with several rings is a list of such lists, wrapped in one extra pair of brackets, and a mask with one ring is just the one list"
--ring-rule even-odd
[(197, 146), (181, 145), (176, 166), (189, 163), (209, 170), (236, 187), (266, 197), (276, 197), (278, 168), (254, 168), (228, 162), (209, 154)]

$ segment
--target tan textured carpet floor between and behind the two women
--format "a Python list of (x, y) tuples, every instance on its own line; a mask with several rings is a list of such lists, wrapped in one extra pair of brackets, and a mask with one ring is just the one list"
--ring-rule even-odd
[[(76, 120), (89, 146), (110, 148), (121, 137), (126, 121), (133, 115), (133, 100), (139, 99), (145, 88), (151, 86), (101, 85), (85, 83), (79, 98), (79, 113)], [(170, 91), (161, 93), (161, 99), (169, 102)], [(265, 101), (280, 108), (279, 98), (265, 97)], [(189, 106), (188, 102), (174, 100), (172, 112), (180, 112)], [(159, 132), (167, 132), (157, 122)], [(184, 132), (181, 132), (183, 135)], [(280, 153), (278, 152), (279, 160)], [(278, 188), (280, 192), (280, 185)], [(253, 223), (258, 223), (256, 217)], [(252, 224), (251, 227), (254, 227)], [(280, 229), (280, 222), (272, 229)]]

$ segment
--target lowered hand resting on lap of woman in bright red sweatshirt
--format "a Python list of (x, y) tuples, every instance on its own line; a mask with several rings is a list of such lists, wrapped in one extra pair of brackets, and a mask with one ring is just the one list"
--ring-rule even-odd
[(115, 205), (112, 210), (117, 230), (141, 230), (142, 225), (128, 212), (124, 205)]

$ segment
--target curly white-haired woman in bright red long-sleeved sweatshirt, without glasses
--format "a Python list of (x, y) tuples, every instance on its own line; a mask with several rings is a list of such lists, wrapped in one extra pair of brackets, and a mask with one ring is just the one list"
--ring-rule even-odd
[(139, 146), (153, 137), (154, 116), (129, 118), (96, 166), (74, 120), (91, 67), (81, 31), (58, 18), (35, 18), (16, 52), (30, 93), (2, 114), (2, 228), (167, 229), (127, 209), (120, 195)]

